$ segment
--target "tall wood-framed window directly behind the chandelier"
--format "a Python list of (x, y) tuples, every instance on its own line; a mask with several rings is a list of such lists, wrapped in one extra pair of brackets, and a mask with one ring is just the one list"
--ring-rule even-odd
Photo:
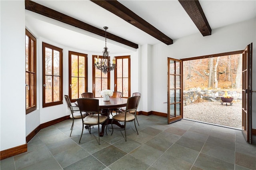
[[(101, 97), (100, 91), (110, 89), (110, 72), (104, 74), (102, 71), (96, 69), (94, 67), (94, 57), (97, 56), (92, 55), (92, 92), (94, 93), (95, 97)], [(98, 62), (100, 62), (101, 59), (102, 56), (99, 56)]]

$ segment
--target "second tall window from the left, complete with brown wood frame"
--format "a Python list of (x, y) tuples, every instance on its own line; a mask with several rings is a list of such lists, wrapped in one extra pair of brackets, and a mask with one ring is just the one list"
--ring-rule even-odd
[(43, 43), (43, 107), (62, 104), (62, 93), (62, 49)]

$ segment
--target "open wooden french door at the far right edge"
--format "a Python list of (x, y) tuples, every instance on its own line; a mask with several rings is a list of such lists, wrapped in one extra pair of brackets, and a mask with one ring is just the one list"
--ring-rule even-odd
[(252, 143), (252, 43), (244, 49), (242, 57), (242, 134)]

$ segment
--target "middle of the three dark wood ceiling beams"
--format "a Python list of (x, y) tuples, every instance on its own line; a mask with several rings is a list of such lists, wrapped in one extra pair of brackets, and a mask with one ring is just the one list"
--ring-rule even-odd
[(164, 33), (160, 32), (154, 26), (146, 22), (144, 19), (140, 18), (137, 14), (126, 8), (117, 0), (91, 0), (95, 4), (105, 8), (106, 10), (112, 12), (116, 16), (119, 16), (126, 22), (136, 26), (140, 30), (146, 32), (150, 36), (156, 38), (157, 40), (170, 45), (173, 44), (173, 40), (166, 36)]

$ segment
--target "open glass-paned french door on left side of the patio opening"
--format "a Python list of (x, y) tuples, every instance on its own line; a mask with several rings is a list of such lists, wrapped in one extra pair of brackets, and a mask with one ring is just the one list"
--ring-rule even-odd
[(182, 61), (168, 60), (168, 124), (183, 118)]

